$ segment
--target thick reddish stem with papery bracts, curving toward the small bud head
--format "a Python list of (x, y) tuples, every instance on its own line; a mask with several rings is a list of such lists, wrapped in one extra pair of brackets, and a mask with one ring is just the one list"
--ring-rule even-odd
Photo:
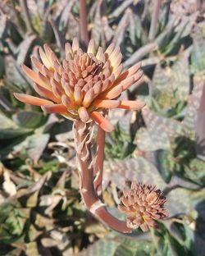
[(93, 125), (85, 124), (82, 121), (75, 121), (75, 144), (77, 159), (79, 163), (80, 174), (80, 193), (84, 204), (95, 217), (98, 217), (102, 222), (106, 223), (112, 229), (127, 233), (130, 228), (125, 222), (119, 221), (112, 214), (107, 212), (107, 208), (103, 202), (98, 199), (98, 195), (93, 185), (93, 162), (91, 156), (91, 139), (93, 134)]

